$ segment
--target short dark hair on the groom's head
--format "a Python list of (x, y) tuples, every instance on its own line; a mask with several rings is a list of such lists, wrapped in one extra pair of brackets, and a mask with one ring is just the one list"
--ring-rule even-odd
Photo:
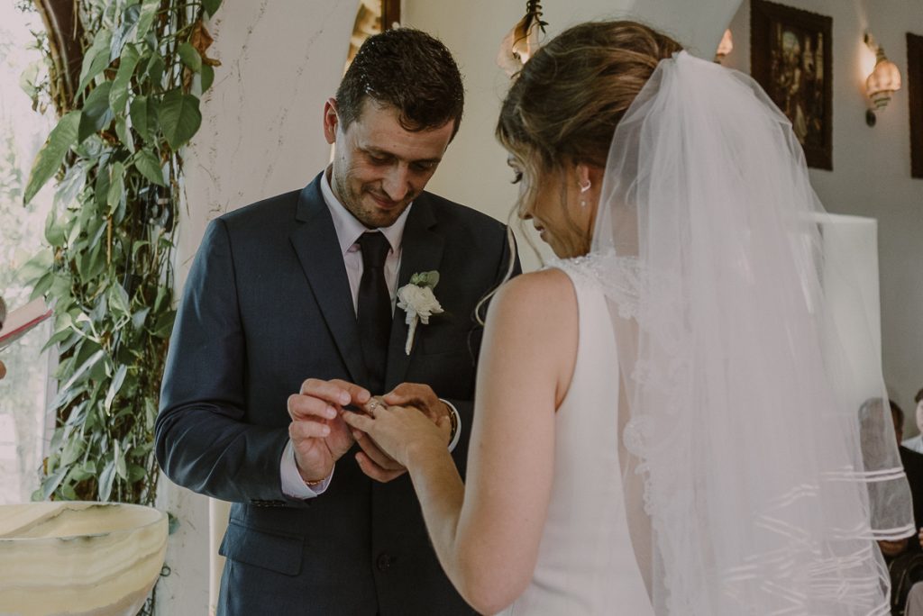
[(462, 122), (459, 67), (441, 41), (421, 30), (396, 28), (366, 39), (337, 89), (343, 130), (359, 118), (366, 98), (397, 109), (405, 130), (453, 121), (455, 136)]

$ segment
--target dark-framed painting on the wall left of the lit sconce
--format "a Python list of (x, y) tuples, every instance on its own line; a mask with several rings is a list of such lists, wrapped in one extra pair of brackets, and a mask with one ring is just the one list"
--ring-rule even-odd
[(751, 73), (792, 122), (809, 167), (833, 169), (833, 18), (750, 0)]

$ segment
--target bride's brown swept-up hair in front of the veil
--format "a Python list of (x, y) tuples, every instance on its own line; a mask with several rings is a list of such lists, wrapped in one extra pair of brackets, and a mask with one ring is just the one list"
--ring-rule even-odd
[[(503, 101), (497, 139), (521, 160), (532, 202), (541, 178), (586, 163), (605, 168), (616, 125), (657, 64), (682, 46), (634, 21), (574, 26), (522, 67)], [(575, 231), (579, 231), (574, 225)], [(590, 238), (577, 254), (585, 254)]]

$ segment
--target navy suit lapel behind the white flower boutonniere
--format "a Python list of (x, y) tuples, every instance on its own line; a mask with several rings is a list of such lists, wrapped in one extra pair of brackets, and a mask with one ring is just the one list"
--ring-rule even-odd
[[(410, 282), (414, 274), (438, 271), (439, 263), (442, 261), (444, 239), (432, 230), (434, 226), (436, 226), (436, 215), (424, 193), (414, 200), (414, 206), (407, 216), (407, 225), (404, 227), (401, 243), (401, 271), (398, 274), (396, 289)], [(388, 368), (385, 372), (385, 389), (389, 391), (403, 382), (407, 367), (410, 365), (410, 356), (404, 352), (408, 330), (405, 322), (406, 315), (395, 302), (394, 321), (391, 323), (391, 338), (388, 347)], [(412, 355), (417, 347), (417, 340), (425, 335), (426, 326), (417, 326), (414, 348), (411, 349)]]

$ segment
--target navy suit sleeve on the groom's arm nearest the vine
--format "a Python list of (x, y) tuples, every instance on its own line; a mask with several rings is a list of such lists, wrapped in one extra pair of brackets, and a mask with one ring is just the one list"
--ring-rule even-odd
[(221, 219), (205, 233), (176, 316), (155, 427), (167, 477), (239, 503), (288, 502), (280, 460), (288, 432), (244, 421), (246, 345), (234, 259)]

